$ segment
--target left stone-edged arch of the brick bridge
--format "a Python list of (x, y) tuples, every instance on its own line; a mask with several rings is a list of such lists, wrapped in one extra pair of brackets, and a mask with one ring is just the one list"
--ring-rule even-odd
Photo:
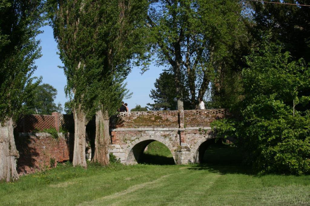
[(159, 141), (162, 144), (166, 145), (170, 150), (172, 157), (175, 161), (175, 149), (172, 147), (169, 141), (166, 141), (164, 137), (140, 137), (131, 142), (125, 152), (126, 164), (137, 164), (141, 154), (144, 152), (145, 147), (153, 141)]

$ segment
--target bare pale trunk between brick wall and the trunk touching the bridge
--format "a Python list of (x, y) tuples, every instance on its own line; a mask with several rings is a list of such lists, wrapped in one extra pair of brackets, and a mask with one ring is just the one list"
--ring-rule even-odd
[(85, 169), (86, 155), (86, 117), (81, 107), (73, 108), (74, 116), (74, 149), (73, 149), (73, 166), (82, 166)]

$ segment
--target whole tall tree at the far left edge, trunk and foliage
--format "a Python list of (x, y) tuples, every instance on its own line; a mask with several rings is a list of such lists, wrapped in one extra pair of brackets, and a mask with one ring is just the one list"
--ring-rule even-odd
[(40, 83), (33, 82), (34, 61), (40, 57), (42, 1), (0, 2), (0, 180), (18, 179), (13, 127)]

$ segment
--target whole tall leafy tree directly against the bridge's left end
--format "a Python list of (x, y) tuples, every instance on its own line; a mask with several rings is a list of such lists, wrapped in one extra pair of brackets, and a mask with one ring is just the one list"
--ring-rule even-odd
[[(99, 11), (98, 57), (102, 72), (98, 78), (98, 108), (94, 161), (109, 163), (109, 119), (122, 99), (130, 97), (124, 80), (133, 64), (139, 65), (148, 51), (144, 28), (148, 2), (145, 0), (99, 1), (92, 9)], [(104, 9), (103, 9), (104, 8)], [(135, 62), (133, 62), (133, 59)]]

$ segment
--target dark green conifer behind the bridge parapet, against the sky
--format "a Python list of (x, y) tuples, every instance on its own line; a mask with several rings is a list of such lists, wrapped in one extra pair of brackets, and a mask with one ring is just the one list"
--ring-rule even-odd
[[(182, 83), (182, 85), (184, 85)], [(175, 98), (175, 86), (174, 76), (170, 72), (163, 72), (159, 75), (154, 83), (155, 90), (151, 90), (149, 95), (154, 100), (154, 104), (147, 103), (151, 107), (151, 110), (175, 110), (176, 103)], [(182, 86), (184, 109), (190, 109), (189, 92), (185, 86)]]

